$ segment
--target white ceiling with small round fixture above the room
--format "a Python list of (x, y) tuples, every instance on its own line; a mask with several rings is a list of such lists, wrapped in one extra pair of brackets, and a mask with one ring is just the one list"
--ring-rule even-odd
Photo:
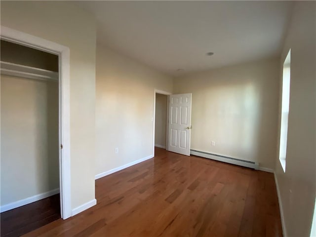
[[(291, 1), (78, 1), (97, 40), (179, 76), (279, 55)], [(206, 56), (214, 52), (213, 56)], [(177, 69), (184, 69), (177, 72)]]

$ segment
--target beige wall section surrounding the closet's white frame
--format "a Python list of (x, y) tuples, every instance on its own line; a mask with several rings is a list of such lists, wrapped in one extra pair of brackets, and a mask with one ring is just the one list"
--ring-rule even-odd
[(95, 198), (95, 19), (74, 4), (63, 1), (1, 1), (1, 25), (70, 48), (74, 209)]

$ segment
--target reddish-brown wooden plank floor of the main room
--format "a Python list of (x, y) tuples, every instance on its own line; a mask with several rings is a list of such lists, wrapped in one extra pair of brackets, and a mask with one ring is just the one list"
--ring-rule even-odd
[(282, 236), (273, 174), (159, 148), (96, 180), (96, 199), (26, 236)]

